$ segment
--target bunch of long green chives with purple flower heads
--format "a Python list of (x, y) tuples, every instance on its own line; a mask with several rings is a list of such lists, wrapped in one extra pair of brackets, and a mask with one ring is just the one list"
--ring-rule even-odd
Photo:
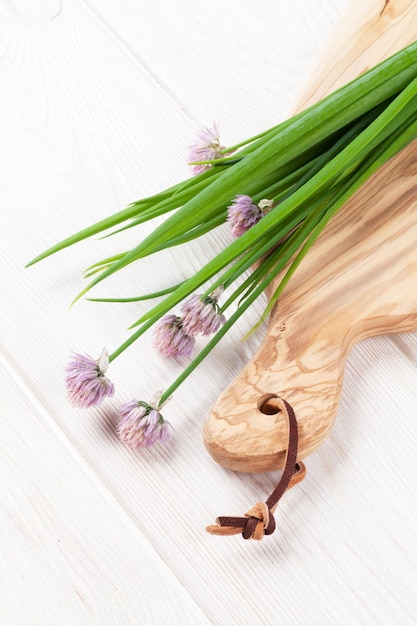
[[(165, 357), (190, 355), (197, 335), (210, 337), (165, 391), (150, 402), (132, 400), (120, 408), (123, 443), (141, 447), (165, 441), (170, 425), (161, 409), (180, 384), (281, 274), (255, 328), (266, 319), (328, 221), (416, 137), (417, 42), (239, 144), (224, 147), (216, 125), (205, 129), (190, 148), (191, 178), (133, 202), (33, 259), (28, 265), (88, 237), (108, 237), (165, 217), (134, 248), (87, 268), (89, 282), (75, 302), (134, 261), (187, 244), (224, 223), (230, 228), (230, 243), (180, 283), (134, 297), (89, 298), (158, 302), (132, 324), (131, 335), (112, 353), (104, 349), (98, 359), (73, 356), (66, 377), (70, 401), (90, 407), (112, 396), (109, 364), (155, 324), (155, 345)], [(181, 313), (173, 313), (178, 305)]]

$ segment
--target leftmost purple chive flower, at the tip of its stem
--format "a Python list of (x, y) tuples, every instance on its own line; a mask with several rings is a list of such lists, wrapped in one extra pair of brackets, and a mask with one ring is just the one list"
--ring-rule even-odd
[(114, 395), (114, 385), (104, 375), (108, 366), (109, 353), (105, 348), (97, 360), (74, 353), (66, 367), (66, 386), (71, 404), (88, 408)]

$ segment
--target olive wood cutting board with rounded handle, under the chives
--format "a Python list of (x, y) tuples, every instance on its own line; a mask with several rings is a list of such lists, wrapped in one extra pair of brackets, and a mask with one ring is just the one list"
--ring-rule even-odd
[[(297, 110), (416, 39), (416, 0), (355, 0)], [(353, 344), (416, 329), (417, 141), (355, 194), (296, 270), (258, 352), (207, 416), (207, 449), (233, 470), (281, 468), (287, 425), (278, 395), (295, 411), (304, 459), (332, 428)]]

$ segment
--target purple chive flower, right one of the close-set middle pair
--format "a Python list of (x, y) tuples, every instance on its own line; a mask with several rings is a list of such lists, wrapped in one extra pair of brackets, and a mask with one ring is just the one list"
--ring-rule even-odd
[(216, 290), (206, 298), (195, 294), (190, 296), (182, 305), (182, 326), (188, 335), (212, 335), (226, 318), (220, 313), (218, 299), (220, 291)]

